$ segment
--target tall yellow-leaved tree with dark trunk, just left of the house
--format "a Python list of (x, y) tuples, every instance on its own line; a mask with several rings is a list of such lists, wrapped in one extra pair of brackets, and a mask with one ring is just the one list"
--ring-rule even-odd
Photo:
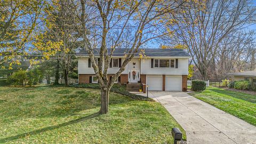
[[(63, 69), (66, 86), (69, 85), (69, 71), (73, 69), (72, 64), (76, 59), (75, 49), (81, 46), (81, 42), (78, 41), (81, 34), (76, 29), (78, 17), (73, 14), (76, 10), (75, 1), (52, 1), (45, 12), (44, 22), (47, 30), (42, 31), (42, 34), (37, 36), (37, 41), (33, 43), (34, 51), (42, 53), (43, 59), (58, 60)], [(55, 79), (58, 79), (58, 75)]]

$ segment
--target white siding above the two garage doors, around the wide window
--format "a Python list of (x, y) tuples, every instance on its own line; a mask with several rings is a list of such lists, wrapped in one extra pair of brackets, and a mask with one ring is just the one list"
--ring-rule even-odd
[(188, 75), (188, 58), (178, 59), (178, 68), (151, 68), (151, 59), (142, 60), (141, 74)]

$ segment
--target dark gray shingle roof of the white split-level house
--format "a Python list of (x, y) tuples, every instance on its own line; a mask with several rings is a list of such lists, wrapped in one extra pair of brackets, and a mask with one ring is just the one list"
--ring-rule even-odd
[[(94, 49), (94, 55), (99, 54), (100, 49)], [(128, 53), (130, 49), (116, 49), (113, 56), (123, 57), (125, 53)], [(191, 57), (187, 52), (181, 49), (141, 49), (145, 50), (147, 57)], [(108, 49), (110, 51), (110, 49)], [(135, 53), (135, 56), (139, 56), (140, 49), (138, 53)], [(87, 55), (85, 50), (82, 50), (77, 53), (77, 55)], [(79, 56), (78, 56), (79, 57)]]

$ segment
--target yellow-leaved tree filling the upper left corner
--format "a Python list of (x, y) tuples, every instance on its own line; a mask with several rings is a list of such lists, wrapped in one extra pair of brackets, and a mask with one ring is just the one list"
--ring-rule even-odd
[[(20, 65), (20, 55), (28, 55), (45, 0), (5, 0), (0, 2), (0, 65)], [(4, 67), (3, 67), (4, 68)]]

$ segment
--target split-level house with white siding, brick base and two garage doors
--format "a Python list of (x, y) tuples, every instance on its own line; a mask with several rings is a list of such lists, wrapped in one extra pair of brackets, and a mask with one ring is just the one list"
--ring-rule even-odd
[[(117, 79), (117, 83), (142, 83), (143, 91), (186, 91), (188, 59), (190, 55), (180, 49), (143, 49), (146, 59), (140, 60), (139, 54), (127, 64)], [(99, 49), (94, 55), (99, 55)], [(124, 61), (127, 49), (116, 49), (108, 68), (109, 78), (114, 75)], [(97, 56), (96, 56), (97, 57)], [(99, 58), (99, 57), (98, 57)], [(80, 84), (98, 83), (91, 60), (86, 52), (78, 53), (78, 79)]]

